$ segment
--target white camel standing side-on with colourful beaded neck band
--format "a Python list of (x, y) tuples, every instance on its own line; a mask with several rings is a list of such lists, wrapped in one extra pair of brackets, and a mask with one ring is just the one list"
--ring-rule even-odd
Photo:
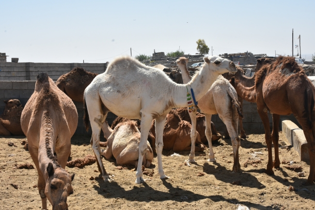
[[(162, 167), (163, 129), (167, 113), (172, 108), (187, 106), (187, 86), (200, 100), (219, 75), (236, 72), (233, 62), (217, 56), (204, 58), (205, 65), (187, 85), (177, 84), (157, 68), (141, 64), (134, 58), (114, 59), (106, 71), (94, 78), (84, 91), (84, 122), (92, 127), (93, 151), (99, 172), (108, 177), (100, 156), (99, 135), (108, 112), (118, 116), (141, 119), (141, 139), (136, 183), (143, 182), (142, 160), (146, 152), (151, 122), (156, 119), (157, 165), (160, 178), (167, 178)], [(220, 65), (219, 65), (220, 63)]]

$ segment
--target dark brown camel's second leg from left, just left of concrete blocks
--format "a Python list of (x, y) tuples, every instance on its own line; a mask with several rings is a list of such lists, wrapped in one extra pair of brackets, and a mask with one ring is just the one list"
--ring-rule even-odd
[(274, 147), (274, 168), (280, 168), (280, 159), (279, 159), (279, 121), (280, 115), (279, 114), (272, 114), (272, 133), (271, 138)]

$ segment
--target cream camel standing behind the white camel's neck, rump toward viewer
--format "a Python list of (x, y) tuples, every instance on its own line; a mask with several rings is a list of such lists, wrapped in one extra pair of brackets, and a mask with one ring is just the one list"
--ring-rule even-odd
[[(188, 58), (180, 57), (176, 63), (180, 69), (183, 77), (184, 84), (190, 82), (190, 75), (187, 68)], [(221, 65), (214, 62), (215, 65)], [(234, 153), (234, 165), (233, 171), (237, 172), (240, 168), (238, 160), (238, 148), (240, 146), (240, 140), (238, 138), (238, 114), (240, 113), (240, 107), (237, 101), (237, 93), (234, 87), (228, 80), (221, 75), (218, 78), (211, 78), (212, 85), (204, 97), (198, 100), (198, 108), (201, 113), (205, 114), (205, 136), (209, 143), (209, 159), (210, 162), (215, 162), (214, 153), (212, 149), (211, 137), (211, 116), (212, 114), (219, 114), (219, 117), (226, 125), (227, 130), (231, 136), (233, 153)], [(191, 118), (191, 151), (187, 162), (195, 162), (195, 141), (196, 141), (196, 112), (190, 112)]]

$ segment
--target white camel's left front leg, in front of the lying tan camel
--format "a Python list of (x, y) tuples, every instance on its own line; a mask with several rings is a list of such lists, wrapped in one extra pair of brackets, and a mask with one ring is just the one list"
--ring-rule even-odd
[(139, 160), (138, 160), (138, 168), (137, 168), (137, 173), (136, 173), (136, 184), (142, 183), (144, 180), (142, 178), (143, 173), (142, 173), (142, 161), (143, 161), (143, 156), (146, 152), (147, 149), (147, 139), (149, 135), (149, 130), (151, 127), (152, 123), (152, 116), (149, 114), (144, 114), (142, 113), (141, 117), (141, 137), (140, 137), (140, 144), (139, 144)]

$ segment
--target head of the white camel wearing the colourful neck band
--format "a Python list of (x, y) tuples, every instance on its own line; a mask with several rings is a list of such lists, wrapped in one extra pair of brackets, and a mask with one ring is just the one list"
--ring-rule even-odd
[(228, 59), (213, 55), (205, 57), (204, 61), (205, 64), (203, 65), (203, 68), (208, 68), (218, 75), (224, 74), (226, 72), (231, 72), (233, 74), (236, 73), (236, 65)]

